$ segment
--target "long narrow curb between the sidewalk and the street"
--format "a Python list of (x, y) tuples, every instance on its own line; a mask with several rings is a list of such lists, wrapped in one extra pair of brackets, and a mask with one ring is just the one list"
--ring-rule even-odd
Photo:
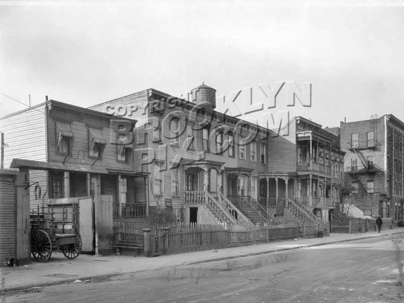
[[(404, 230), (394, 232), (393, 234), (400, 234), (400, 233), (404, 233)], [(385, 236), (389, 236), (391, 234), (392, 233), (382, 234), (382, 235), (378, 235), (378, 237), (385, 237)], [(361, 237), (361, 238), (352, 238), (352, 239), (345, 239), (345, 240), (338, 240), (338, 241), (316, 243), (316, 244), (308, 244), (308, 245), (305, 245), (304, 247), (306, 248), (306, 247), (322, 246), (322, 245), (328, 245), (328, 244), (334, 244), (334, 243), (370, 239), (370, 238), (374, 238), (374, 237), (376, 237), (376, 235), (366, 236), (366, 237)], [(293, 249), (299, 249), (299, 248), (302, 248), (302, 247), (287, 247), (287, 248), (280, 248), (280, 249), (270, 249), (270, 250), (260, 251), (260, 252), (256, 252), (256, 253), (242, 254), (242, 255), (237, 255), (237, 256), (228, 256), (228, 257), (219, 257), (219, 258), (214, 258), (214, 259), (206, 259), (206, 260), (200, 260), (200, 261), (195, 261), (195, 262), (190, 262), (190, 263), (181, 263), (181, 264), (172, 265), (172, 266), (179, 266), (179, 265), (186, 266), (186, 265), (195, 265), (195, 264), (200, 264), (200, 263), (217, 262), (217, 261), (223, 261), (223, 260), (244, 258), (244, 257), (249, 257), (249, 256), (271, 254), (272, 252), (293, 250)], [(170, 267), (170, 266), (167, 266), (167, 267)], [(154, 270), (156, 270), (156, 269), (154, 269)], [(2, 289), (0, 293), (1, 293), (1, 295), (5, 295), (10, 292), (19, 292), (19, 291), (29, 289), (29, 288), (34, 288), (34, 287), (39, 288), (39, 287), (52, 286), (52, 285), (58, 285), (58, 284), (73, 283), (76, 280), (92, 280), (92, 279), (99, 279), (99, 278), (108, 278), (109, 279), (111, 277), (123, 276), (123, 275), (127, 275), (127, 274), (134, 274), (134, 273), (144, 272), (144, 271), (145, 270), (143, 269), (143, 270), (127, 272), (127, 273), (114, 273), (114, 274), (95, 275), (95, 276), (88, 276), (88, 277), (77, 277), (75, 279), (66, 279), (66, 280), (60, 280), (60, 281), (54, 281), (54, 282), (29, 284), (29, 285), (25, 285), (25, 286), (5, 288), (5, 289)]]

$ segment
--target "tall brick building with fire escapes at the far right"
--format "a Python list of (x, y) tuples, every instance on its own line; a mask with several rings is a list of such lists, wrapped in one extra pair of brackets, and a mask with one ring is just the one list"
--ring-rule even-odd
[(347, 185), (354, 189), (344, 202), (365, 215), (402, 220), (404, 123), (391, 114), (341, 122), (340, 141)]

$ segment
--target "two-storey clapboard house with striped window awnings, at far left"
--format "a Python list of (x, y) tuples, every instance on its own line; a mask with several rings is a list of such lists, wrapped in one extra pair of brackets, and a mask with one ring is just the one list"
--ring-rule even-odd
[[(28, 169), (30, 208), (92, 201), (80, 221), (88, 222), (83, 249), (107, 252), (113, 220), (145, 220), (147, 175), (136, 173), (132, 132), (136, 120), (48, 100), (0, 119), (4, 133), (5, 167)], [(128, 131), (122, 132), (122, 129)], [(99, 212), (98, 206), (103, 206)], [(94, 213), (102, 217), (92, 229)], [(83, 227), (84, 228), (84, 227)], [(103, 237), (95, 239), (99, 230)], [(83, 238), (83, 235), (82, 235)]]

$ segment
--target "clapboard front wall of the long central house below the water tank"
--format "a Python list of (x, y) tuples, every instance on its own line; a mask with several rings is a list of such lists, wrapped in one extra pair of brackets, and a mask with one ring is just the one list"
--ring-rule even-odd
[[(147, 151), (148, 158), (143, 161), (143, 166), (147, 162), (153, 162), (153, 159), (163, 161), (164, 162), (164, 168), (166, 171), (163, 172), (164, 175), (164, 180), (163, 180), (163, 186), (164, 186), (164, 194), (163, 196), (158, 196), (154, 195), (153, 193), (153, 178), (154, 178), (154, 165), (153, 163), (150, 163), (148, 165), (148, 171), (150, 172), (149, 179), (150, 179), (150, 205), (154, 206), (157, 203), (161, 206), (162, 204), (164, 205), (164, 200), (165, 198), (171, 198), (172, 199), (172, 204), (173, 207), (181, 207), (181, 205), (184, 203), (184, 190), (185, 190), (185, 172), (183, 169), (183, 166), (179, 167), (179, 189), (180, 189), (180, 195), (179, 197), (172, 196), (171, 194), (171, 184), (172, 184), (172, 179), (171, 179), (171, 171), (170, 167), (173, 163), (178, 163), (181, 158), (187, 158), (187, 159), (194, 159), (198, 160), (200, 159), (202, 155), (202, 159), (208, 160), (208, 161), (216, 161), (216, 162), (223, 162), (224, 166), (226, 168), (237, 168), (237, 167), (244, 167), (244, 168), (249, 168), (252, 169), (251, 176), (258, 176), (260, 173), (266, 173), (268, 172), (268, 164), (261, 163), (260, 157), (260, 148), (261, 148), (261, 142), (266, 143), (267, 140), (265, 138), (265, 135), (263, 134), (262, 130), (259, 131), (259, 134), (256, 136), (255, 131), (253, 131), (252, 135), (250, 137), (254, 138), (257, 143), (257, 161), (251, 161), (250, 160), (250, 144), (246, 144), (245, 149), (246, 149), (246, 159), (242, 160), (239, 159), (239, 140), (240, 140), (240, 129), (238, 129), (238, 126), (234, 122), (229, 122), (226, 119), (224, 121), (223, 116), (221, 114), (215, 113), (214, 119), (210, 122), (210, 137), (209, 137), (209, 146), (210, 146), (210, 152), (207, 152), (205, 154), (200, 154), (202, 148), (202, 131), (198, 129), (200, 126), (196, 123), (196, 114), (195, 112), (190, 113), (189, 110), (187, 110), (184, 107), (181, 108), (169, 108), (165, 107), (164, 111), (162, 114), (157, 114), (154, 113), (151, 108), (148, 111), (148, 124), (153, 125), (153, 115), (161, 115), (162, 116), (162, 142), (154, 142), (153, 141), (153, 128), (149, 127), (148, 128), (148, 148), (144, 147), (143, 150)], [(170, 121), (172, 118), (177, 118), (179, 119), (180, 122), (180, 137), (179, 137), (179, 144), (178, 146), (171, 145), (171, 140), (170, 140)], [(195, 149), (194, 150), (187, 150), (187, 145), (186, 145), (186, 140), (187, 140), (187, 134), (186, 134), (186, 123), (191, 123), (195, 125)], [(252, 127), (254, 125), (251, 124)], [(222, 154), (217, 154), (216, 153), (216, 130), (221, 127), (223, 128), (223, 150), (224, 153)], [(234, 148), (234, 157), (229, 157), (228, 156), (228, 132), (230, 130), (233, 130), (234, 132), (234, 140), (235, 140), (235, 148)], [(249, 132), (243, 133), (244, 137), (248, 137)], [(268, 147), (267, 147), (267, 154), (268, 154)], [(137, 161), (142, 161), (141, 157), (137, 156), (135, 162)], [(266, 160), (268, 160), (268, 157), (266, 157)], [(267, 162), (267, 161), (266, 161)], [(144, 170), (143, 170), (144, 171)], [(211, 175), (211, 190), (216, 191), (216, 173), (214, 171), (210, 172)], [(226, 192), (226, 184), (227, 184), (227, 176), (224, 171), (222, 171), (222, 178), (223, 178), (223, 191)], [(250, 182), (247, 179), (246, 180), (246, 192), (250, 192)]]

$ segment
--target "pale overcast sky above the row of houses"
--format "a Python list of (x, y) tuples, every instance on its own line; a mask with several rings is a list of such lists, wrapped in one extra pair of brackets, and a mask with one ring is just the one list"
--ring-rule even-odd
[(323, 126), (404, 121), (403, 37), (404, 0), (3, 1), (0, 116), (29, 96), (89, 107), (147, 88), (255, 96), (289, 81), (312, 85), (312, 106), (292, 113)]

